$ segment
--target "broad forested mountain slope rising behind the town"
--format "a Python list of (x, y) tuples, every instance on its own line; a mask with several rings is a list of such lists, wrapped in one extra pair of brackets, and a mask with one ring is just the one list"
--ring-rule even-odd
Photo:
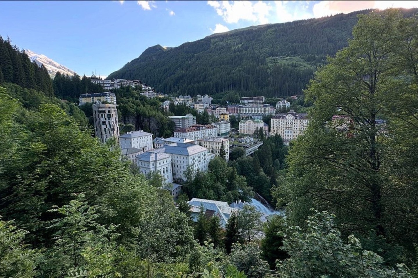
[(169, 49), (155, 45), (108, 78), (140, 79), (163, 93), (295, 95), (326, 55), (347, 46), (357, 14), (370, 11), (232, 30)]

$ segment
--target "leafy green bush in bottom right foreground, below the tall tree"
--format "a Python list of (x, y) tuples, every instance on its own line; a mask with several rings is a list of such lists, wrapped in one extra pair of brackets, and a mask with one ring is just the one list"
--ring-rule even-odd
[(306, 230), (292, 226), (282, 233), (283, 249), (290, 258), (278, 262), (280, 277), (410, 277), (405, 265), (385, 266), (382, 257), (362, 249), (354, 235), (345, 243), (334, 218), (315, 211), (308, 217)]

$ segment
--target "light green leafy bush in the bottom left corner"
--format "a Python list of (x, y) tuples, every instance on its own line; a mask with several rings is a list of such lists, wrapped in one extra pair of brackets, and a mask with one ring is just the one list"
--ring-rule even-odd
[(13, 225), (13, 221), (0, 220), (1, 278), (33, 277), (40, 254), (23, 243), (27, 233)]

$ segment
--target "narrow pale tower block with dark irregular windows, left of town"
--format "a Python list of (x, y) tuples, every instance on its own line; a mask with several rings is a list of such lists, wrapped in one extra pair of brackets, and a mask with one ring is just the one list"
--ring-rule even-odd
[(119, 122), (115, 104), (96, 101), (93, 104), (94, 133), (103, 143), (109, 138), (119, 138)]

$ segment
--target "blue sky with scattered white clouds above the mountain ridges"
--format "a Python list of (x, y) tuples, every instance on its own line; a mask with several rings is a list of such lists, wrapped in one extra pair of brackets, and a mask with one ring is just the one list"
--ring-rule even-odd
[(0, 35), (79, 75), (105, 77), (157, 44), (391, 6), (418, 1), (0, 1)]

